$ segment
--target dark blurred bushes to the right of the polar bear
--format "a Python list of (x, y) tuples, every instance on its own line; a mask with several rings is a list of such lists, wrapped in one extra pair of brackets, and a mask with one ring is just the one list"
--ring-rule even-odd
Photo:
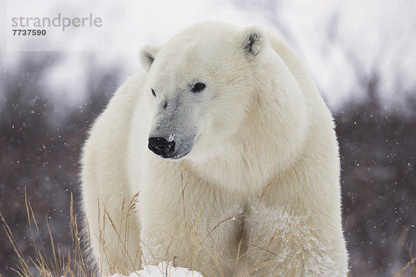
[(416, 95), (385, 111), (368, 94), (335, 115), (343, 222), (353, 276), (392, 276), (416, 242)]

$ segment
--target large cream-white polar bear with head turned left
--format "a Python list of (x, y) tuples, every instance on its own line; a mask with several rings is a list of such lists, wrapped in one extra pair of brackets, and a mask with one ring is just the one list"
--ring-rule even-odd
[(346, 276), (333, 118), (291, 48), (205, 21), (139, 56), (83, 151), (102, 274)]

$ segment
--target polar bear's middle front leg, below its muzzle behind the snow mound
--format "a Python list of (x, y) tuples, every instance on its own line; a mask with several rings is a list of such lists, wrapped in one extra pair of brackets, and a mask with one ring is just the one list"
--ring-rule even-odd
[(163, 173), (159, 181), (148, 179), (140, 193), (144, 262), (171, 261), (205, 276), (233, 276), (243, 218), (238, 199), (190, 170), (183, 179)]

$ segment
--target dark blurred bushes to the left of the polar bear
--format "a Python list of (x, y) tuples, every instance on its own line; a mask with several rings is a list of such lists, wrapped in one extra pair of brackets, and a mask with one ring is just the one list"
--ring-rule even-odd
[[(29, 55), (29, 54), (28, 54)], [(0, 211), (27, 258), (35, 257), (24, 204), (24, 189), (40, 224), (49, 237), (46, 218), (62, 251), (71, 245), (69, 201), (73, 192), (80, 201), (78, 161), (87, 129), (105, 107), (119, 85), (117, 67), (89, 70), (89, 95), (85, 105), (56, 105), (45, 91), (46, 69), (58, 64), (62, 55), (38, 53), (26, 56), (17, 71), (1, 71), (0, 103)], [(87, 57), (86, 66), (94, 60)], [(68, 69), (73, 70), (73, 69)], [(65, 110), (57, 109), (57, 106)], [(76, 209), (78, 210), (78, 209)], [(78, 214), (80, 214), (78, 210)], [(79, 216), (78, 216), (79, 218)], [(35, 235), (35, 238), (37, 235)], [(48, 240), (44, 240), (48, 242)], [(46, 245), (47, 250), (51, 250)], [(6, 232), (0, 231), (0, 275), (17, 276), (17, 266)]]

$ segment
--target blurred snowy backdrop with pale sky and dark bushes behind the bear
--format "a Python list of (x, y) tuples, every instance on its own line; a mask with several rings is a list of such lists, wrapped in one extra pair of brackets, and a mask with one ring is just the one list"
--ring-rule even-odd
[[(49, 2), (37, 9), (53, 14), (58, 1)], [(85, 133), (114, 90), (140, 69), (139, 48), (220, 19), (284, 37), (333, 111), (352, 276), (392, 276), (406, 265), (416, 242), (415, 1), (122, 0), (105, 1), (104, 10), (103, 51), (13, 52), (0, 42), (0, 212), (24, 255), (33, 256), (25, 187), (41, 235), (48, 233), (47, 217), (61, 248), (71, 244), (69, 197), (79, 199)], [(4, 0), (0, 18), (4, 37)], [(74, 44), (85, 39), (71, 35)], [(17, 276), (10, 270), (16, 265), (1, 229), (0, 274)]]

